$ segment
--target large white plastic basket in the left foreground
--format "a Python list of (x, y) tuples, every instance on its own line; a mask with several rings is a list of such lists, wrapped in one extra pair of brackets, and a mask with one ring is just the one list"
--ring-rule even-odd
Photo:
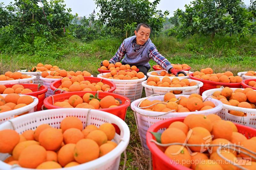
[[(107, 112), (94, 109), (84, 109), (84, 108), (60, 108), (60, 109), (50, 109), (35, 112), (29, 115), (24, 115), (12, 119), (9, 122), (5, 122), (0, 125), (0, 130), (3, 129), (15, 129), (19, 134), (22, 134), (25, 130), (32, 129), (35, 130), (38, 125), (49, 124), (54, 128), (60, 128), (60, 122), (68, 117), (76, 116), (82, 122), (84, 127), (90, 124), (93, 124), (99, 127), (101, 124), (109, 122), (116, 124), (121, 133), (120, 135), (116, 134), (113, 142), (116, 142), (118, 145), (111, 152), (106, 155), (92, 160), (90, 162), (80, 164), (70, 168), (64, 168), (67, 170), (81, 169), (81, 170), (91, 170), (91, 169), (102, 169), (109, 170), (119, 169), (119, 163), (121, 154), (125, 151), (126, 147), (129, 144), (130, 140), (130, 130), (127, 124), (120, 119), (119, 117), (112, 115)], [(9, 154), (0, 153), (0, 160), (6, 159)], [(1, 169), (11, 169), (11, 165), (0, 161)], [(27, 168), (15, 167), (17, 170), (26, 170)]]

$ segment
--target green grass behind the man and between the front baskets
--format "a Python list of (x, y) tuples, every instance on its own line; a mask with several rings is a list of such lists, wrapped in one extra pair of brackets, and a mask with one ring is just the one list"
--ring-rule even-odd
[[(37, 63), (57, 65), (65, 70), (87, 70), (97, 76), (100, 61), (110, 59), (118, 49), (122, 40), (106, 39), (83, 43), (79, 40), (67, 39), (60, 48), (28, 53), (1, 53), (0, 74), (6, 71), (17, 71), (28, 68)], [(172, 37), (152, 38), (158, 51), (171, 63), (187, 63), (191, 71), (211, 67), (214, 72), (231, 71), (234, 74), (240, 71), (256, 70), (256, 38), (244, 37), (216, 37), (210, 42), (207, 37), (196, 35), (187, 40), (179, 41)], [(156, 64), (150, 61), (151, 66)], [(151, 69), (152, 70), (152, 69)], [(150, 71), (151, 71), (150, 70)], [(145, 97), (143, 92), (142, 97)], [(141, 148), (139, 134), (136, 127), (133, 111), (128, 109), (125, 122), (130, 128), (131, 138), (127, 148), (126, 169), (148, 169), (149, 159)], [(124, 164), (122, 154), (120, 169)]]

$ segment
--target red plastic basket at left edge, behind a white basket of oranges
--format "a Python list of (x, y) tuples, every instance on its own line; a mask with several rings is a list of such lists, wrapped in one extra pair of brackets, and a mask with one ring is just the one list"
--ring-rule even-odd
[[(32, 93), (27, 93), (26, 95), (35, 96), (38, 99), (38, 104), (36, 106), (36, 111), (42, 110), (42, 106), (45, 99), (45, 93), (47, 92), (47, 86), (41, 85), (38, 89), (36, 84), (19, 84), (23, 85), (25, 89), (32, 90)], [(6, 88), (12, 88), (13, 85), (5, 85)]]

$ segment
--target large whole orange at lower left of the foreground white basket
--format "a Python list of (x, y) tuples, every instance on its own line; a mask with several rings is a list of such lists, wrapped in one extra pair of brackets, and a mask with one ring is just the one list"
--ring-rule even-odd
[(46, 161), (46, 150), (40, 145), (30, 145), (19, 156), (19, 165), (24, 168), (36, 168)]

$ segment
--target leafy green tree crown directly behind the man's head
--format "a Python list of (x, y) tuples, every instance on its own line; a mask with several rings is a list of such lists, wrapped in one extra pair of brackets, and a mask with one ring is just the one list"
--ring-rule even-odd
[[(168, 11), (156, 10), (160, 0), (152, 3), (148, 0), (95, 0), (97, 7), (100, 7), (99, 20), (112, 29), (117, 35), (124, 35), (127, 26), (134, 25), (134, 22), (147, 23), (152, 28), (152, 33), (158, 33), (164, 24), (164, 18)], [(133, 35), (130, 31), (129, 35)]]

